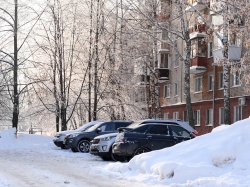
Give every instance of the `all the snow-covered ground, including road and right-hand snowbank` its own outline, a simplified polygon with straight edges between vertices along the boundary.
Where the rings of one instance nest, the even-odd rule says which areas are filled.
[[[128,163],[61,150],[53,137],[0,132],[0,187],[249,187],[250,118]]]

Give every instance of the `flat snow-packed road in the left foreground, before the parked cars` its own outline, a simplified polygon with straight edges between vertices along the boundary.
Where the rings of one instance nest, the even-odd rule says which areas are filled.
[[[101,171],[108,162],[69,150],[10,149],[0,151],[0,186],[8,187],[148,187],[121,173]]]

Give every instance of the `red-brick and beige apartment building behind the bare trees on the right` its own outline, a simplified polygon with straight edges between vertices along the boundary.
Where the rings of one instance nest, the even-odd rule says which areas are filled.
[[[172,6],[170,2],[169,0],[161,0],[163,6]],[[199,0],[189,0],[189,3],[192,4],[192,7],[187,7],[186,11],[190,12],[191,102],[195,128],[200,134],[204,134],[210,132],[214,127],[224,124],[223,67],[217,63],[218,59],[222,58],[223,46],[215,35],[208,37],[207,29],[209,26],[205,21],[219,26],[223,20],[208,9],[217,1],[211,0],[206,5],[200,3]],[[200,15],[192,11],[192,8],[202,13],[202,19]],[[163,17],[161,12],[159,15],[159,22],[171,19],[171,15]],[[178,27],[178,23],[173,26]],[[187,120],[184,92],[185,67],[176,51],[168,46],[167,42],[166,44],[162,42],[166,34],[164,31],[161,32],[162,40],[158,45],[158,65],[156,67],[159,74],[161,116],[164,119]],[[233,65],[238,65],[242,56],[242,42],[236,36],[233,40],[234,42],[228,47],[228,58],[233,62]],[[176,46],[182,49],[180,50],[182,53],[185,53],[186,46],[182,40],[176,39]],[[230,73],[231,123],[250,116],[250,95],[241,85],[241,76],[239,71]]]

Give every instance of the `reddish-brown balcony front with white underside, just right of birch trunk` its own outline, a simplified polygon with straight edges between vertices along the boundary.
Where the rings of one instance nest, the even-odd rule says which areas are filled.
[[[199,57],[191,59],[190,61],[190,73],[198,74],[207,71],[207,57]]]

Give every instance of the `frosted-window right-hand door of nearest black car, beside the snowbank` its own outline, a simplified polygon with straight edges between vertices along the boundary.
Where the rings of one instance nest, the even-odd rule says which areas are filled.
[[[189,131],[178,125],[169,125],[170,133],[175,139],[175,144],[190,140],[192,135]]]

